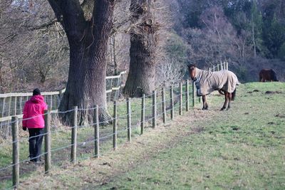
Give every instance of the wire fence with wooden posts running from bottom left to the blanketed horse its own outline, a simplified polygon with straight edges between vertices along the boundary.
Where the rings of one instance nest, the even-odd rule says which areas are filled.
[[[195,97],[195,92],[195,85],[187,80],[140,98],[109,102],[107,107],[74,107],[66,112],[46,110],[44,115],[40,115],[45,120],[44,132],[38,135],[44,139],[41,154],[37,156],[43,158],[43,162],[37,166],[44,167],[43,172],[48,174],[53,167],[100,157],[110,152],[110,149],[115,150],[118,144],[131,142],[133,137],[142,135],[157,125],[165,125],[174,120],[176,115],[182,115],[195,107],[200,102]],[[107,122],[99,120],[102,110],[108,110],[112,115]],[[62,115],[67,113],[71,115],[70,126],[61,124]],[[80,116],[83,113],[92,114],[87,117],[92,120],[81,122]],[[26,120],[29,119],[31,118]],[[21,121],[21,118],[15,116],[6,122],[6,129],[11,132],[12,137],[0,142],[0,184],[8,183],[13,188],[19,186],[20,176],[28,176],[36,168],[31,164],[31,159],[35,157],[28,155],[28,141],[34,137],[27,137],[27,132],[19,130]]]

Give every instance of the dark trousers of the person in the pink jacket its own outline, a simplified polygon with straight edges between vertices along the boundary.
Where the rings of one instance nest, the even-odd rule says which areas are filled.
[[[29,134],[29,151],[30,151],[30,160],[31,162],[41,161],[41,144],[43,142],[43,129],[28,129]],[[36,137],[35,137],[36,136]]]

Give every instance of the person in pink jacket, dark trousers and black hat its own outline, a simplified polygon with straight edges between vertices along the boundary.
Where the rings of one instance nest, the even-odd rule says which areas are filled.
[[[28,128],[29,158],[31,162],[41,162],[41,144],[43,142],[44,132],[44,110],[48,106],[41,96],[41,91],[36,88],[33,90],[33,96],[26,101],[23,110],[23,130]]]

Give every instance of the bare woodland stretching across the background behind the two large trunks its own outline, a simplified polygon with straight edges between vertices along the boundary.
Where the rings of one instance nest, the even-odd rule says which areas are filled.
[[[115,4],[108,73],[128,70],[130,1]],[[261,68],[285,80],[284,0],[156,0],[160,23],[154,53],[156,86],[187,78],[186,65],[229,63],[241,82],[257,81]],[[48,1],[0,1],[0,93],[66,87],[69,46]]]

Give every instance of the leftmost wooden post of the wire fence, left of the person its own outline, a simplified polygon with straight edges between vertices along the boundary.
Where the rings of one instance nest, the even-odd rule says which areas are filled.
[[[12,138],[13,138],[13,186],[19,185],[19,120],[12,117]]]

